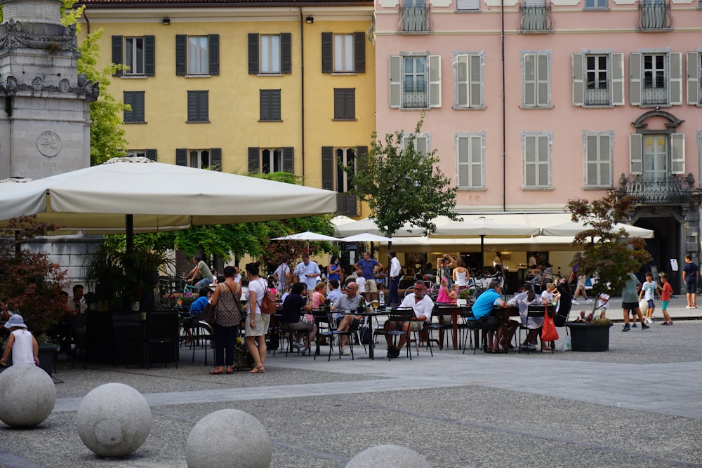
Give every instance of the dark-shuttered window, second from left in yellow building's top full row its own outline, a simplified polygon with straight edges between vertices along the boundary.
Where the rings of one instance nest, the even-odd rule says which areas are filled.
[[[219,34],[208,36],[176,35],[176,75],[209,76],[219,74]]]

